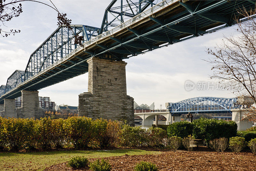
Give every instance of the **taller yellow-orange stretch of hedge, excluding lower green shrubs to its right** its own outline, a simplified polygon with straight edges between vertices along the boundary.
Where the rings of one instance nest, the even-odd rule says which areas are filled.
[[[40,120],[0,117],[0,150],[115,146],[120,125],[116,121],[93,121],[91,118],[76,116]]]

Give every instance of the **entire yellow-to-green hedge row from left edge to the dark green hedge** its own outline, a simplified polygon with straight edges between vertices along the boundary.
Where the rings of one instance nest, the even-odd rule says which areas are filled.
[[[146,130],[105,119],[76,116],[40,120],[0,117],[0,150],[161,146],[165,137],[166,132],[161,128]]]

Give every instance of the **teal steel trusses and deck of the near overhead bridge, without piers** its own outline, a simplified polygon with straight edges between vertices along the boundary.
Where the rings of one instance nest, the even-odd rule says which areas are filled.
[[[173,43],[203,36],[245,21],[239,8],[255,8],[255,0],[113,0],[100,27],[57,28],[29,57],[24,71],[16,70],[0,86],[0,103],[88,72],[92,56],[123,60]],[[157,3],[157,4],[156,4]],[[84,47],[74,42],[83,36]]]

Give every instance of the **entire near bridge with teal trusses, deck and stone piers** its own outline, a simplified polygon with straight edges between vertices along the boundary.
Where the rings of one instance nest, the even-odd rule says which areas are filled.
[[[14,71],[0,86],[1,115],[38,118],[40,109],[28,114],[29,106],[38,106],[33,102],[37,90],[89,72],[88,92],[79,95],[79,115],[133,123],[122,60],[233,26],[235,17],[244,22],[237,9],[249,11],[255,2],[113,0],[99,27],[60,26],[36,48],[24,71]],[[83,37],[83,47],[75,43],[75,35]],[[22,108],[15,110],[13,99],[19,96]]]

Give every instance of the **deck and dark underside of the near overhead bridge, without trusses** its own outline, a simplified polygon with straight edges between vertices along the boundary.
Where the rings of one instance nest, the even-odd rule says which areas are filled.
[[[241,18],[236,9],[244,7],[249,10],[255,7],[255,2],[164,0],[85,42],[83,48],[76,48],[44,70],[31,74],[15,88],[4,92],[0,96],[0,103],[4,98],[19,97],[21,90],[39,90],[88,72],[86,60],[92,56],[123,60],[232,26],[236,24],[235,15]],[[43,59],[48,57],[42,55]],[[32,64],[37,65],[36,61]]]

